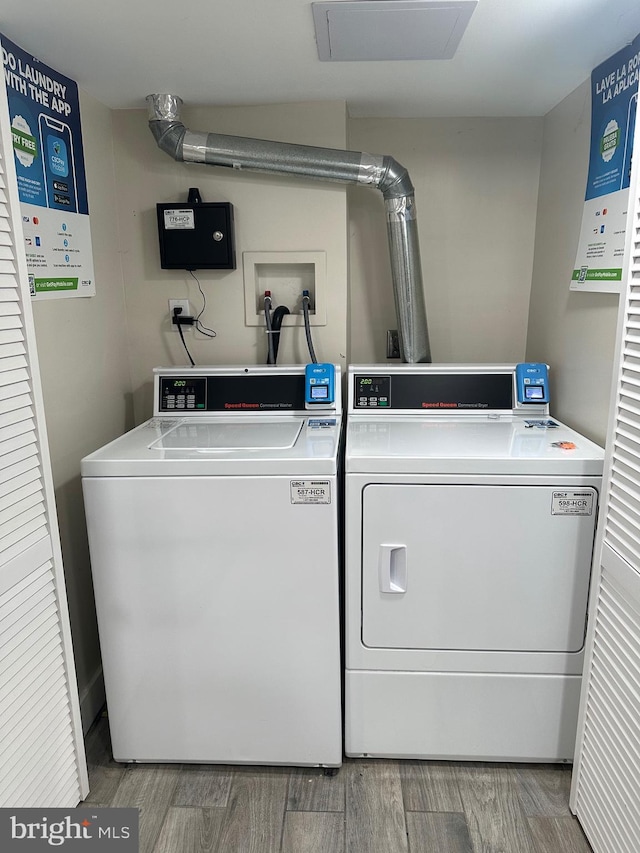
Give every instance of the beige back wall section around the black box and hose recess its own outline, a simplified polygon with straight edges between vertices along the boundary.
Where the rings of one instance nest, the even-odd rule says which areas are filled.
[[[203,201],[234,205],[237,269],[196,272],[206,294],[205,325],[217,332],[207,339],[187,333],[197,364],[256,364],[266,360],[262,327],[245,325],[243,252],[326,252],[327,325],[314,328],[320,361],[346,364],[347,213],[346,187],[308,179],[177,163],[161,151],[148,127],[146,111],[114,113],[118,218],[126,290],[129,356],[138,421],[151,414],[152,368],[187,364],[180,338],[170,328],[168,300],[188,298],[202,307],[187,272],[162,270],[156,203],[186,201],[199,187]],[[268,107],[185,109],[193,131],[345,147],[345,105],[287,104]],[[286,328],[278,363],[306,362],[304,331]]]

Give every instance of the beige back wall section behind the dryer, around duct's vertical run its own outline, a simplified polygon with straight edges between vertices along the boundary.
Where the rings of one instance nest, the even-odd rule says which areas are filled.
[[[389,154],[416,189],[435,362],[525,352],[542,119],[352,119],[349,148]],[[349,190],[350,353],[384,362],[396,328],[380,193]]]

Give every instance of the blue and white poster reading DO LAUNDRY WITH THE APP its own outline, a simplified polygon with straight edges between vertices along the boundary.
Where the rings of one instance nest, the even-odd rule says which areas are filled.
[[[31,296],[95,296],[78,87],[0,44]]]

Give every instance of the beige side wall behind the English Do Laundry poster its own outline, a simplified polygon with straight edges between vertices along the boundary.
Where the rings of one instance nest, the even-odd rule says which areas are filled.
[[[132,426],[132,416],[111,111],[84,93],[80,107],[97,295],[34,301],[33,313],[86,725],[103,699],[80,460]]]

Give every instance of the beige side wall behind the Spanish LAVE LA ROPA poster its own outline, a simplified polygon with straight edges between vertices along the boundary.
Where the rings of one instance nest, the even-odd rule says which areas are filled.
[[[569,290],[589,164],[590,84],[544,121],[527,359],[551,366],[553,413],[604,444],[618,297]]]

